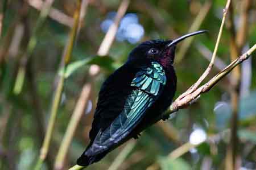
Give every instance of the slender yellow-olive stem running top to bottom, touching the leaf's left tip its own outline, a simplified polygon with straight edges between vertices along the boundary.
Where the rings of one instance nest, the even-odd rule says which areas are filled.
[[[63,66],[62,67],[64,68],[64,71],[65,71],[67,64],[69,63],[69,61],[71,59],[71,53],[73,50],[73,45],[75,43],[77,30],[79,27],[81,0],[78,0],[77,2],[78,2],[77,9],[73,16],[75,23],[74,23],[74,26],[73,26],[70,34],[69,34],[67,48],[65,49],[65,53],[63,55]],[[42,167],[43,161],[46,159],[46,156],[47,156],[47,153],[49,150],[49,144],[51,142],[53,127],[55,125],[55,120],[56,120],[56,116],[57,116],[57,109],[59,107],[61,94],[63,92],[64,79],[65,79],[64,75],[61,75],[59,78],[59,82],[57,84],[56,92],[53,97],[53,103],[52,103],[52,107],[51,107],[51,113],[50,113],[47,131],[46,131],[46,136],[44,138],[43,146],[40,151],[38,163],[36,164],[36,167],[35,167],[36,170],[39,170]]]

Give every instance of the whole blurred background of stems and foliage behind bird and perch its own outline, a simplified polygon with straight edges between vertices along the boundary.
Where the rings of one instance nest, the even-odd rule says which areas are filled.
[[[0,169],[34,169],[39,155],[45,159],[41,169],[75,165],[89,143],[100,86],[131,49],[144,40],[209,30],[177,47],[179,96],[207,68],[225,5],[224,0],[2,0]],[[254,45],[255,23],[256,1],[232,1],[207,80]],[[199,101],[88,169],[256,169],[254,56]],[[47,156],[40,153],[43,143],[49,144]]]

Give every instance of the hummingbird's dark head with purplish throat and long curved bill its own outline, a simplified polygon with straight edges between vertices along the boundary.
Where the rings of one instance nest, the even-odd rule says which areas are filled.
[[[152,59],[158,61],[163,67],[170,67],[174,63],[175,48],[177,43],[189,36],[207,31],[196,31],[180,36],[175,40],[150,40],[139,44],[131,51],[128,60]]]

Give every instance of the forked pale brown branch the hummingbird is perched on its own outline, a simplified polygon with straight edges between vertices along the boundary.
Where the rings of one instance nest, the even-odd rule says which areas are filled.
[[[249,56],[251,55],[251,53],[253,53],[256,49],[256,44],[253,45],[253,47],[251,47],[247,52],[243,53],[243,55],[241,55],[240,57],[238,57],[236,60],[234,60],[232,63],[230,63],[228,66],[226,66],[224,69],[222,69],[222,71],[220,71],[218,74],[216,74],[216,76],[214,76],[212,79],[210,79],[207,83],[205,83],[204,85],[200,86],[201,82],[204,80],[205,77],[208,76],[210,70],[213,67],[214,64],[214,60],[216,58],[216,54],[217,54],[217,49],[218,49],[218,45],[220,43],[220,38],[221,38],[221,34],[222,34],[222,30],[224,27],[224,23],[225,23],[225,19],[226,19],[226,14],[227,11],[229,9],[229,5],[230,5],[230,0],[227,1],[225,9],[224,9],[224,15],[222,18],[222,23],[221,23],[221,27],[220,27],[220,32],[218,34],[218,38],[217,38],[217,42],[216,42],[216,47],[214,48],[214,52],[213,52],[213,56],[212,56],[212,60],[210,61],[210,64],[208,66],[208,68],[205,70],[205,72],[203,73],[203,75],[199,78],[199,80],[197,80],[196,84],[194,84],[193,86],[191,86],[191,88],[189,88],[186,92],[184,92],[183,94],[181,94],[170,106],[170,109],[166,112],[163,113],[162,115],[160,115],[158,118],[156,118],[154,121],[149,122],[148,125],[144,125],[141,128],[138,129],[138,132],[143,131],[145,128],[147,128],[148,126],[152,125],[155,122],[160,121],[160,119],[162,118],[167,118],[169,117],[169,115],[171,113],[176,112],[177,110],[180,109],[184,109],[185,107],[191,105],[191,103],[197,99],[200,98],[200,95],[203,93],[207,93],[209,92],[209,90],[211,90],[213,88],[214,85],[216,85],[222,78],[224,78],[229,72],[231,72],[234,68],[237,67],[237,65],[241,64],[243,61],[245,61],[246,59],[249,58]],[[72,170],[77,170],[77,169],[83,169],[85,167],[79,166],[79,165],[75,165],[74,167],[72,167]],[[69,169],[69,170],[71,170]]]

